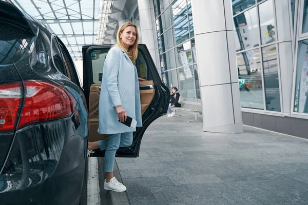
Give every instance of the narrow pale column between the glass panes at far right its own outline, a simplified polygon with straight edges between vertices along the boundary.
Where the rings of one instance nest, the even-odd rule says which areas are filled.
[[[292,82],[293,82],[293,47],[292,47],[292,18],[288,0],[275,1],[277,21],[278,51],[280,65],[280,94],[282,96],[282,110],[291,113]],[[278,53],[277,53],[278,54]]]

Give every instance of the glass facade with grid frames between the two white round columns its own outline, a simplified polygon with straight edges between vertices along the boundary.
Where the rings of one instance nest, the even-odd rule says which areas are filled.
[[[191,1],[153,1],[163,82],[183,97],[200,98]]]

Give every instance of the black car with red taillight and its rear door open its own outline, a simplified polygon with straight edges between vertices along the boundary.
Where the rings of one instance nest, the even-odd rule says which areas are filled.
[[[88,141],[104,138],[97,132],[98,104],[110,47],[83,47],[82,87],[61,40],[0,1],[0,204],[80,203]],[[169,91],[145,45],[136,67],[146,79],[140,87],[143,127],[117,157],[137,157],[146,128],[167,112]]]

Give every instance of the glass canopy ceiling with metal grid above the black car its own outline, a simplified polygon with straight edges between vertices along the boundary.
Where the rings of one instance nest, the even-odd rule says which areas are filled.
[[[82,59],[82,46],[102,44],[112,0],[2,0],[14,4],[49,26],[74,60]]]

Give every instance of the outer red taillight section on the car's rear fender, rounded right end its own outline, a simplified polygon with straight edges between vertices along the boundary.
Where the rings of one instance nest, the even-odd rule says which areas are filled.
[[[18,129],[36,122],[65,118],[74,111],[75,99],[62,87],[42,81],[26,81],[25,88],[25,103]]]

